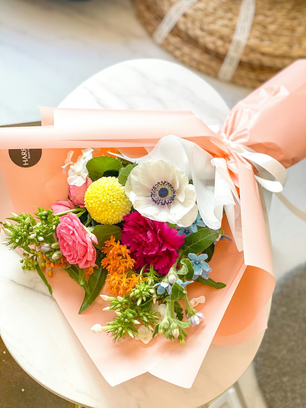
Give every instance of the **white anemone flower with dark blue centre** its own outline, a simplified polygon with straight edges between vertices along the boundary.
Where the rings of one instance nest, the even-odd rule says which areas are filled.
[[[148,160],[139,164],[124,189],[135,210],[150,220],[187,227],[197,217],[194,186],[172,163]]]

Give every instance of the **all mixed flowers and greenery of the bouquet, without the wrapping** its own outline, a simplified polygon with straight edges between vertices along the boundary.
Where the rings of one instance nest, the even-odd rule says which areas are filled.
[[[231,238],[206,226],[192,180],[172,163],[93,157],[90,148],[72,162],[73,153],[62,166],[68,200],[34,216],[12,213],[2,244],[23,251],[22,269],[36,270],[50,294],[45,273],[66,271],[84,288],[79,313],[105,286],[109,295],[101,297],[114,318],[91,330],[114,341],[128,335],[147,344],[159,333],[184,344],[185,329],[204,319],[194,307],[205,302],[204,295],[188,299],[186,286],[226,286],[209,277],[208,262],[217,241]]]

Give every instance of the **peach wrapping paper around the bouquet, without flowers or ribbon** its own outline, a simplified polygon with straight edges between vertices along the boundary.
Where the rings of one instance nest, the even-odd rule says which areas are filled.
[[[306,60],[299,60],[239,102],[228,115],[223,132],[229,140],[271,155],[288,167],[306,157],[305,112]],[[12,211],[8,208],[11,203],[15,211],[33,211],[34,204],[49,207],[67,197],[67,180],[60,165],[68,149],[91,146],[101,148],[103,154],[116,147],[131,157],[140,157],[168,134],[191,140],[216,157],[227,157],[233,181],[239,184],[244,252],[239,253],[235,244],[226,240],[217,245],[211,277],[227,286],[222,290],[201,284],[191,287],[189,297],[206,297],[206,303],[197,306],[205,320],[190,328],[184,346],[162,337],[146,346],[130,339],[113,344],[107,335],[89,330],[112,317],[112,312],[102,312],[105,302],[99,297],[78,315],[82,288],[60,270],[49,279],[56,301],[109,384],[115,386],[149,371],[189,388],[211,342],[239,344],[266,328],[266,303],[273,292],[274,277],[250,164],[235,154],[227,155],[223,142],[191,112],[42,108],[42,125],[0,129],[0,164],[6,183],[2,191],[7,189],[7,200],[1,200],[1,219]],[[24,147],[42,148],[42,159],[29,169],[13,164],[8,155],[8,149]],[[231,235],[226,220],[222,226]]]

